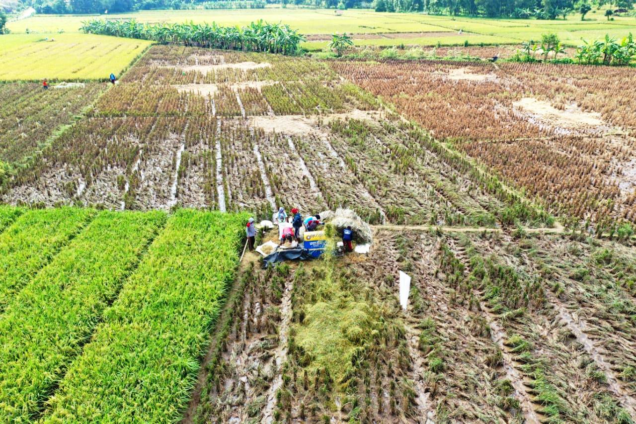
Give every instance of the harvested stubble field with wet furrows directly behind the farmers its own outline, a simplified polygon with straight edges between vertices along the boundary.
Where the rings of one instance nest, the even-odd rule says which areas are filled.
[[[155,46],[2,189],[12,204],[303,213],[372,223],[550,225],[328,63]],[[476,178],[474,173],[478,173]]]

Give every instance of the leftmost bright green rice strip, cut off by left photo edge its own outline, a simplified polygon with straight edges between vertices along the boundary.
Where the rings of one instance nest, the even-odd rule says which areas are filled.
[[[94,215],[93,209],[32,210],[0,234],[0,311]]]

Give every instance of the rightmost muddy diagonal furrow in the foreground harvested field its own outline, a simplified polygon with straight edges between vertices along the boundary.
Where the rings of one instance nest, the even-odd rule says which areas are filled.
[[[607,386],[609,386],[610,390],[620,399],[623,407],[625,407],[632,416],[636,416],[636,399],[632,397],[628,390],[623,388],[623,385],[621,385],[616,373],[612,369],[612,364],[605,360],[604,355],[598,351],[598,348],[593,341],[591,341],[590,337],[584,333],[583,329],[586,327],[585,322],[574,320],[572,314],[567,311],[560,300],[556,299],[556,297],[547,290],[546,293],[548,294],[548,299],[550,299],[551,304],[555,307],[559,318],[561,318],[567,328],[574,334],[576,340],[583,345],[584,350],[594,360],[598,368],[605,373]]]

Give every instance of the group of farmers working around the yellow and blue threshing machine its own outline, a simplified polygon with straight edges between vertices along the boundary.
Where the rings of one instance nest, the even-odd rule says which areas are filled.
[[[307,216],[303,219],[300,215],[298,208],[291,209],[291,214],[287,215],[285,208],[282,206],[279,208],[278,213],[273,216],[277,225],[287,224],[280,232],[280,248],[293,249],[300,243],[300,229],[301,227],[305,231],[315,231],[315,229],[322,224],[319,214]],[[289,226],[291,223],[291,226]],[[249,250],[254,250],[254,243],[256,243],[256,226],[254,224],[254,218],[249,218],[247,222],[247,228],[245,229],[247,234],[247,245]],[[353,251],[351,227],[347,227],[343,230],[342,242],[346,251]]]

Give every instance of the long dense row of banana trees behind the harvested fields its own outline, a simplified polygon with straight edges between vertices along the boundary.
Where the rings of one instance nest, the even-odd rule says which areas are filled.
[[[136,20],[95,19],[82,22],[81,30],[103,34],[139,38],[159,43],[182,44],[245,52],[294,54],[300,50],[305,37],[286,24],[268,24],[259,20],[239,27],[212,24],[142,24]]]

